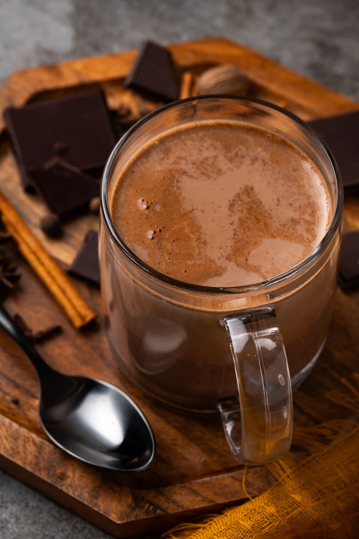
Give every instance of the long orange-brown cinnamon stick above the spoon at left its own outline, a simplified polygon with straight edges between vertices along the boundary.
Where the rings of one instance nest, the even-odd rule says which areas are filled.
[[[75,328],[85,326],[93,320],[96,316],[93,310],[1,192],[0,211],[2,222],[16,241],[19,252],[64,309]]]

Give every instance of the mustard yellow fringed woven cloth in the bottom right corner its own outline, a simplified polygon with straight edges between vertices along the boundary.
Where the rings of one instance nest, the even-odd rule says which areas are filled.
[[[347,393],[327,397],[353,410],[353,420],[333,420],[294,430],[289,452],[268,465],[278,482],[255,499],[201,524],[168,532],[171,539],[281,539],[359,537],[359,375],[342,380]],[[308,456],[309,453],[309,456]]]

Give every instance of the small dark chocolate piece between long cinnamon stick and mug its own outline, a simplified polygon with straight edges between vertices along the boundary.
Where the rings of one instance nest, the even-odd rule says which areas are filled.
[[[100,264],[98,262],[98,234],[89,230],[75,258],[67,267],[68,273],[100,285]]]

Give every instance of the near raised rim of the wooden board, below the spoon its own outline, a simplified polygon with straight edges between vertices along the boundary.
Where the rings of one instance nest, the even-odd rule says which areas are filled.
[[[5,433],[5,437],[7,439],[7,441],[6,439],[0,439],[0,467],[4,469],[4,471],[10,473],[20,481],[23,481],[27,485],[38,490],[39,492],[59,503],[60,505],[66,507],[69,510],[72,510],[84,519],[117,537],[126,537],[129,535],[146,533],[147,531],[156,531],[160,529],[170,528],[174,524],[180,523],[185,519],[192,519],[193,517],[213,512],[221,512],[221,510],[226,507],[240,505],[240,503],[246,501],[242,489],[242,476],[244,470],[243,468],[241,468],[231,473],[223,472],[221,474],[214,474],[213,476],[198,478],[187,483],[182,483],[182,488],[184,488],[185,490],[188,488],[188,492],[192,494],[193,492],[196,492],[198,496],[196,498],[195,507],[186,508],[179,506],[178,510],[173,510],[173,507],[171,508],[171,505],[173,506],[173,491],[180,488],[181,485],[170,485],[168,487],[159,487],[158,489],[145,488],[143,490],[139,490],[122,486],[116,483],[116,488],[118,487],[118,489],[124,489],[124,499],[126,499],[126,493],[133,493],[133,497],[131,497],[131,500],[129,499],[128,501],[135,503],[137,500],[138,502],[140,502],[141,498],[144,497],[145,505],[149,508],[149,511],[151,510],[151,507],[154,511],[158,509],[156,507],[156,499],[159,496],[161,499],[160,510],[162,510],[163,513],[149,513],[148,515],[143,514],[140,515],[139,518],[136,518],[138,516],[138,513],[140,513],[140,511],[143,510],[144,507],[142,503],[140,503],[140,505],[138,506],[138,513],[135,514],[132,512],[127,520],[126,517],[121,517],[121,515],[118,515],[118,517],[114,516],[114,508],[110,507],[110,504],[107,506],[108,514],[105,514],[104,512],[100,512],[100,510],[95,508],[94,506],[91,507],[90,503],[86,503],[86,501],[84,501],[83,499],[81,500],[79,497],[76,497],[74,494],[69,493],[66,489],[62,489],[61,486],[55,484],[56,481],[59,482],[57,480],[59,474],[61,475],[61,473],[69,469],[69,464],[71,464],[70,467],[72,467],[73,465],[73,467],[76,468],[78,462],[75,461],[75,459],[69,457],[68,455],[66,455],[66,453],[62,453],[61,450],[55,447],[47,438],[38,438],[36,434],[33,434],[31,431],[25,429],[25,427],[22,427],[18,423],[16,423],[16,421],[13,421],[12,419],[9,419],[5,416],[0,416],[0,427],[3,432],[3,436]],[[17,453],[19,441],[20,445],[25,444],[26,447],[31,447],[32,438],[35,439],[34,443],[36,444],[37,448],[36,455],[34,455],[31,459],[29,458],[29,455],[27,455],[26,457],[26,452],[22,452],[21,449]],[[56,463],[56,467],[53,467],[52,469],[56,470],[57,478],[55,478],[51,470],[50,472],[47,471],[47,476],[45,476],[43,472],[39,471],[39,469],[36,468],[38,464],[39,454],[42,454],[43,456],[45,455],[46,461]],[[59,455],[61,458],[60,467]],[[62,460],[62,457],[64,458],[64,460]],[[80,464],[84,467],[87,467],[87,465],[85,464]],[[101,471],[98,471],[95,468],[94,470],[96,473],[98,472],[98,474],[101,474]],[[78,470],[78,468],[76,468],[76,473],[78,473],[80,477],[82,476],[82,481],[86,482],[86,476],[83,475],[83,471],[81,471],[81,469]],[[250,468],[247,474],[249,487],[248,489],[251,495],[260,494],[260,492],[254,492],[251,486],[252,476],[253,479],[255,479],[256,473],[257,472],[255,468]],[[264,487],[267,482],[266,478],[267,476],[270,476],[270,474],[263,467],[261,473],[262,485]],[[72,479],[77,480],[78,476]],[[98,479],[101,485],[101,477]],[[209,483],[216,483],[217,487],[223,488],[228,485],[228,481],[232,482],[235,486],[235,488],[233,489],[235,495],[231,496],[230,499],[227,499],[223,502],[218,500],[212,500],[212,502],[208,503],[208,499],[206,499],[206,497],[201,497],[201,490],[207,489],[207,485],[209,491],[213,492],[214,485],[211,486],[209,485]],[[199,486],[200,488],[198,488]],[[82,488],[85,489],[85,485],[82,485]],[[263,489],[265,489],[265,487]],[[105,495],[110,496],[111,499],[113,499],[113,494],[115,494],[114,497],[116,498],[115,501],[117,502],[118,498],[116,496],[116,493],[112,492],[112,490],[109,490],[107,493],[105,493]],[[153,499],[152,506],[151,499]],[[167,506],[167,509],[163,501],[165,503],[166,501],[168,501],[169,505]]]

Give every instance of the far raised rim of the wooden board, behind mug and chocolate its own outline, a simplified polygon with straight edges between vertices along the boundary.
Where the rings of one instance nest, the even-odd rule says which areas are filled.
[[[295,101],[316,115],[359,109],[359,103],[314,82],[277,62],[227,38],[209,38],[168,45],[180,67],[200,61],[231,61],[250,72],[257,84]],[[186,53],[186,54],[185,54]],[[68,60],[53,65],[15,71],[0,87],[0,133],[4,128],[2,112],[9,106],[22,106],[34,94],[54,88],[100,83],[125,77],[136,50]],[[268,71],[271,72],[270,79]],[[15,92],[16,89],[16,92]],[[310,94],[310,95],[309,95]]]

